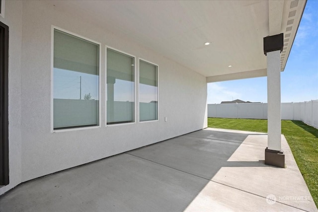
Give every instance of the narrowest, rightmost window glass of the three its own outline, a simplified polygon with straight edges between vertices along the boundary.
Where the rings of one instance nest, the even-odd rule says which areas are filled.
[[[139,61],[139,120],[158,120],[158,66]]]

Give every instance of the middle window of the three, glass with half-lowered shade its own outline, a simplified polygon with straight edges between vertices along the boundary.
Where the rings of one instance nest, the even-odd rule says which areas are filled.
[[[135,58],[107,48],[107,125],[135,120]]]

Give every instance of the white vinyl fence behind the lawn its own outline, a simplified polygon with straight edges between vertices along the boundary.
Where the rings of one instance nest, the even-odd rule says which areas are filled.
[[[318,100],[281,106],[282,120],[299,120],[318,129]],[[208,117],[267,119],[267,103],[208,104]]]

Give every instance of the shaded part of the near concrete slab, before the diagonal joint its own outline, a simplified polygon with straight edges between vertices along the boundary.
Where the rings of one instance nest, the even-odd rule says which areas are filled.
[[[1,212],[183,211],[208,180],[129,154],[20,185]]]

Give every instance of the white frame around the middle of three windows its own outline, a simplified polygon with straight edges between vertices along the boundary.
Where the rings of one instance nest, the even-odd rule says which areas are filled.
[[[133,122],[129,122],[129,123],[119,123],[119,124],[111,124],[111,125],[107,125],[107,49],[111,49],[114,50],[116,52],[120,52],[122,54],[128,55],[130,57],[134,58],[134,121]],[[136,56],[129,54],[127,52],[121,51],[119,49],[113,48],[111,46],[105,45],[105,102],[104,102],[104,106],[105,106],[105,126],[106,127],[116,127],[116,126],[122,126],[122,125],[133,125],[136,124],[136,87],[137,87],[137,76],[136,76]]]

